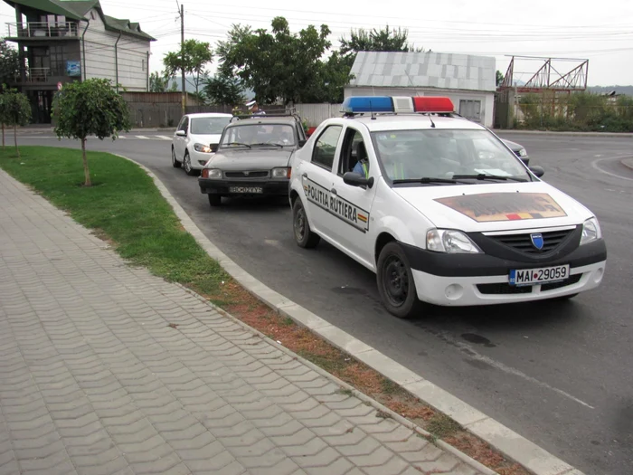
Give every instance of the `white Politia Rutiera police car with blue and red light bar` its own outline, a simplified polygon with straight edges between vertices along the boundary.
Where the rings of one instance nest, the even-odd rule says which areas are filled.
[[[393,315],[424,303],[568,299],[600,285],[595,215],[443,97],[350,97],[291,161],[295,240],[376,273]]]

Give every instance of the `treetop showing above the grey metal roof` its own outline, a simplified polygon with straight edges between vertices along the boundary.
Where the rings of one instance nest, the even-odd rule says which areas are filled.
[[[358,52],[422,52],[422,48],[416,48],[409,43],[409,31],[394,28],[389,29],[387,24],[384,29],[371,31],[359,28],[350,30],[349,39],[342,36],[340,53],[347,65],[352,68]]]

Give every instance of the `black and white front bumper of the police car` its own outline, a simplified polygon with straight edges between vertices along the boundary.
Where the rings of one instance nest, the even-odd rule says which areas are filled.
[[[528,263],[487,254],[442,254],[403,245],[422,301],[441,306],[476,306],[563,297],[595,289],[604,276],[607,248],[603,240],[580,246],[562,258]],[[512,269],[570,265],[561,282],[529,287],[509,285]]]

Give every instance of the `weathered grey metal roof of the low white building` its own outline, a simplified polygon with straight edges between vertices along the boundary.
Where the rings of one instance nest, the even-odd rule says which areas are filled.
[[[494,57],[444,52],[359,52],[351,87],[496,90]]]

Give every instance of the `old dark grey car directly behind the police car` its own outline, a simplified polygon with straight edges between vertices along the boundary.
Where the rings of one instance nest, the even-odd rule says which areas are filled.
[[[222,133],[217,152],[203,166],[200,192],[209,204],[222,196],[288,196],[289,160],[306,143],[297,115],[266,115],[231,122]]]

